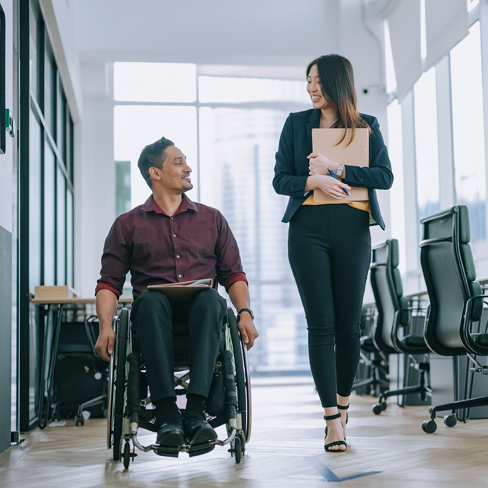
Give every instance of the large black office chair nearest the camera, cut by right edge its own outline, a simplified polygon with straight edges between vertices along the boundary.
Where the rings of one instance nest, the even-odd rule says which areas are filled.
[[[483,298],[469,246],[469,213],[466,205],[456,205],[420,221],[423,240],[420,263],[424,273],[430,305],[424,337],[429,349],[442,356],[466,355],[474,363],[471,371],[488,374],[475,355],[488,356],[488,334],[474,333],[473,323],[483,315]],[[486,303],[486,302],[485,302]],[[488,406],[488,397],[460,400],[431,408],[430,420],[424,421],[424,432],[433,433],[436,413],[451,410],[444,417],[447,427],[456,424],[458,409]],[[467,420],[465,420],[467,422]]]

